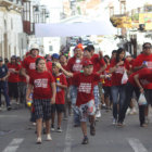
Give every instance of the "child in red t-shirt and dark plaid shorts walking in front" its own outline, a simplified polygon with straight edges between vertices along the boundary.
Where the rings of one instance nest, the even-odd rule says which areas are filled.
[[[50,136],[50,118],[51,104],[55,102],[55,84],[52,74],[46,71],[45,59],[38,58],[36,60],[36,71],[29,79],[29,85],[26,93],[26,102],[28,102],[29,94],[33,92],[35,116],[37,124],[37,143],[41,143],[41,127],[42,118],[46,123],[47,140],[52,140]]]

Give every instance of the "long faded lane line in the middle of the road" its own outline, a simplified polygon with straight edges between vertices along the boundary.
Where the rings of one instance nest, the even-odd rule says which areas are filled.
[[[68,118],[68,123],[67,123],[67,129],[66,129],[66,136],[65,136],[65,149],[64,152],[71,152],[72,151],[72,118],[73,116],[71,116]]]

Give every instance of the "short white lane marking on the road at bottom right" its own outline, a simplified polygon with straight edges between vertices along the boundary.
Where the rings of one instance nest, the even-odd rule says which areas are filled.
[[[148,152],[139,139],[128,138],[127,139],[135,152]]]

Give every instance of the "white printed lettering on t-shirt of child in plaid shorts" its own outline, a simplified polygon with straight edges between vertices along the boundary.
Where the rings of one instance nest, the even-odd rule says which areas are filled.
[[[35,79],[35,87],[36,88],[47,88],[48,87],[48,79],[41,78],[41,79]]]

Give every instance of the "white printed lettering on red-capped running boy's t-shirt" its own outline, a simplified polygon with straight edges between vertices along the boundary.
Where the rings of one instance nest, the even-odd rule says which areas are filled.
[[[81,83],[78,88],[79,92],[90,93],[91,92],[91,84]]]

